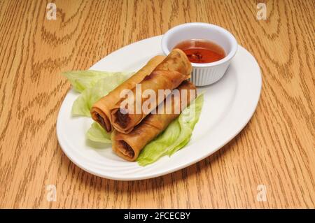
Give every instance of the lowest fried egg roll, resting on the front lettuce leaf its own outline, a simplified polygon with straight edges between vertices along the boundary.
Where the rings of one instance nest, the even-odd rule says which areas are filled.
[[[148,115],[129,134],[123,134],[114,129],[111,134],[113,152],[127,161],[135,161],[146,144],[164,131],[176,117],[179,117],[180,112],[197,96],[195,85],[188,80],[185,80],[177,89],[179,89],[179,94],[171,94],[165,99],[165,101],[172,100],[171,103],[164,101],[164,106],[160,104],[158,107],[159,112]],[[187,94],[183,94],[181,92],[182,89],[186,89]],[[185,97],[186,101],[183,101]],[[168,109],[169,111],[172,110],[172,112],[167,114],[167,107],[170,105],[172,105],[172,109]],[[162,113],[160,113],[159,109],[161,109]],[[174,111],[179,111],[179,113]]]

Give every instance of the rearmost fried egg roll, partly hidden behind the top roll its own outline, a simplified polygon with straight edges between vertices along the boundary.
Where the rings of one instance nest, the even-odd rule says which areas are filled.
[[[141,82],[141,80],[144,80],[147,75],[150,75],[163,59],[165,59],[165,56],[153,57],[137,73],[134,73],[134,75],[125,80],[123,84],[119,85],[116,89],[113,89],[109,94],[94,103],[91,109],[92,119],[101,124],[106,131],[111,131],[111,110],[113,106],[120,101],[120,92],[123,91],[123,89],[133,89],[139,82]]]

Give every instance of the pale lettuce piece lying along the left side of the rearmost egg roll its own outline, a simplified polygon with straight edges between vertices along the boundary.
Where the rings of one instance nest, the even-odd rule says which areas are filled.
[[[93,87],[83,90],[80,96],[78,96],[78,99],[73,102],[71,114],[73,116],[91,117],[90,110],[93,104],[127,80],[130,75],[132,75],[132,73],[107,72],[106,77],[98,80]]]

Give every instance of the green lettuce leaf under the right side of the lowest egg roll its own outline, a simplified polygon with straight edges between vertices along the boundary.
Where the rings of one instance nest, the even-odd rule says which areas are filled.
[[[146,145],[139,154],[138,164],[141,166],[152,164],[160,157],[171,156],[183,148],[190,141],[195,124],[199,120],[203,102],[204,96],[200,94],[162,134]]]

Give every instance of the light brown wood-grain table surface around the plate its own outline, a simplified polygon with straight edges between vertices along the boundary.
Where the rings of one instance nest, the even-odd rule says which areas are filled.
[[[48,2],[0,0],[0,208],[314,208],[314,0],[267,1],[267,20],[260,1],[60,0],[56,20]],[[60,73],[185,22],[230,30],[257,59],[261,98],[244,130],[151,180],[106,180],[69,161],[56,136],[70,89]]]

